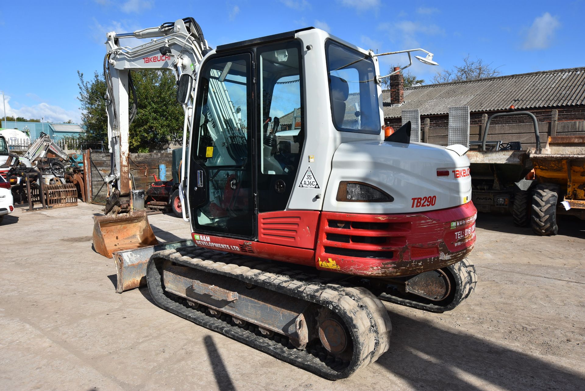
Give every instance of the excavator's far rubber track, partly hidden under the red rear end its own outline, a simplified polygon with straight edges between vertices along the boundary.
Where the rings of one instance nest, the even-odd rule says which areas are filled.
[[[427,304],[421,303],[420,301],[403,299],[387,293],[380,294],[378,298],[384,301],[389,301],[390,303],[400,304],[401,306],[417,308],[417,310],[424,310],[433,313],[450,311],[473,293],[477,284],[477,272],[473,263],[469,262],[469,259],[467,258],[453,263],[453,265],[447,266],[445,269],[448,269],[455,279],[455,294],[449,296],[452,297],[452,300],[448,303],[439,302],[441,304]]]

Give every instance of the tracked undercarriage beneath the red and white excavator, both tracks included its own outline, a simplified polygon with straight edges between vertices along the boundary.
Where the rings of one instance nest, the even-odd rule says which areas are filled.
[[[184,247],[154,254],[146,279],[167,311],[328,379],[346,378],[387,351],[390,318],[372,293],[386,282],[318,276],[295,266]],[[446,269],[448,278],[459,279],[446,300],[380,298],[449,310],[473,292],[477,277],[468,260]]]

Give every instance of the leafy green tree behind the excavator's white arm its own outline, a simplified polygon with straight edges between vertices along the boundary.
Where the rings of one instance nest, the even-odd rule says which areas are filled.
[[[93,80],[85,81],[77,72],[80,83],[81,121],[88,141],[107,142],[108,118],[104,95],[104,77],[97,72]],[[183,108],[176,101],[176,81],[170,70],[132,72],[137,95],[137,113],[130,124],[129,146],[132,152],[148,152],[169,142],[183,139]],[[129,105],[132,107],[132,94]]]

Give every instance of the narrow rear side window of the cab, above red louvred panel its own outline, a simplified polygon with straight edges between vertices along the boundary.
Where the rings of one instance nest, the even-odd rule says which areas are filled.
[[[259,46],[257,101],[258,210],[286,210],[305,140],[301,44],[289,40]]]

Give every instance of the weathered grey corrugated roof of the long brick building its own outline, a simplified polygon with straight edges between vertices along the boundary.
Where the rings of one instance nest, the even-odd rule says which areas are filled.
[[[522,73],[474,81],[429,84],[404,89],[404,104],[392,106],[390,90],[382,92],[384,118],[402,110],[419,109],[421,115],[446,114],[449,107],[470,111],[559,107],[585,104],[585,67]]]

